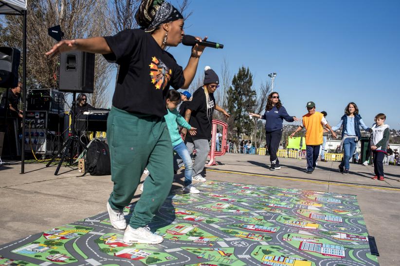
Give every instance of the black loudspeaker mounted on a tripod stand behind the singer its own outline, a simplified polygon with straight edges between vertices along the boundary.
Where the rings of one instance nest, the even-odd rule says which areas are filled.
[[[59,90],[93,93],[94,53],[69,51],[60,55]]]

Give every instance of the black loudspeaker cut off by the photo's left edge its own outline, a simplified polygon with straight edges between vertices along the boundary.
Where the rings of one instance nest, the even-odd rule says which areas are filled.
[[[21,52],[12,47],[0,47],[0,87],[18,86],[18,67]]]

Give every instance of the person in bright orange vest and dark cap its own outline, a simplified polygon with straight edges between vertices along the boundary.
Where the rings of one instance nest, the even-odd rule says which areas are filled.
[[[303,127],[306,128],[307,173],[312,174],[316,166],[315,163],[318,159],[320,146],[323,143],[324,126],[332,133],[334,138],[336,138],[336,133],[329,126],[324,115],[315,111],[315,103],[313,101],[307,102],[306,108],[308,113],[303,116],[303,125],[291,133],[291,137],[302,130]]]

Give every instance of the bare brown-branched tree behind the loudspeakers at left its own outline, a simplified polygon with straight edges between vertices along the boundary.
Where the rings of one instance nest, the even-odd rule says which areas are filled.
[[[28,1],[27,83],[44,88],[57,86],[58,62],[48,60],[44,55],[55,44],[47,34],[48,28],[59,24],[66,39],[107,35],[105,6],[107,0]],[[0,44],[21,49],[22,17],[5,16],[1,22]],[[106,77],[110,70],[107,65],[103,57],[96,57],[95,86],[91,96],[95,99],[91,103],[96,107],[102,107],[107,100]]]

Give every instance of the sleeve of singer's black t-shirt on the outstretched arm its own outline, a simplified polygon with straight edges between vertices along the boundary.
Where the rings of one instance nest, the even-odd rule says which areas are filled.
[[[140,30],[124,30],[114,36],[104,37],[112,50],[112,53],[104,54],[104,58],[110,63],[117,63],[118,65],[130,59],[138,46],[141,35]]]

